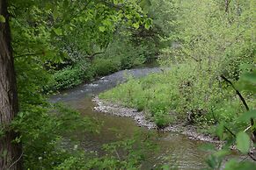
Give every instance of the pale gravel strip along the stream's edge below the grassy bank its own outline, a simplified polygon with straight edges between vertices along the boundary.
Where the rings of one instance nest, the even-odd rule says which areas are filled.
[[[150,130],[157,129],[157,125],[154,122],[148,120],[145,117],[145,114],[143,113],[143,111],[137,111],[132,108],[123,107],[121,106],[121,104],[118,104],[118,103],[109,103],[99,99],[98,96],[95,96],[92,99],[92,101],[97,104],[97,106],[94,107],[94,110],[97,110],[99,112],[103,112],[106,114],[111,114],[116,117],[130,117],[135,120],[135,123],[138,126],[143,126]],[[181,134],[186,135],[190,139],[201,140],[205,142],[214,143],[217,145],[223,144],[223,141],[217,140],[216,138],[213,138],[209,135],[205,135],[197,132],[196,128],[193,125],[174,124],[174,125],[169,125],[159,131],[179,132]]]

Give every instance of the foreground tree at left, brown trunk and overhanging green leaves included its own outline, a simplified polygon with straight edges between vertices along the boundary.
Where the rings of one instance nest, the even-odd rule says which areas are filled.
[[[71,39],[71,36],[82,37],[80,42],[84,43],[85,47],[83,46],[82,50],[86,53],[94,44],[100,47],[106,46],[117,25],[127,24],[135,27],[145,25],[146,15],[138,2],[136,0],[0,1],[0,168],[21,169],[22,156],[26,154],[25,158],[30,158],[30,153],[21,151],[20,139],[26,146],[29,140],[26,137],[31,135],[26,133],[29,131],[26,128],[32,128],[33,125],[35,128],[41,124],[40,126],[48,131],[53,130],[51,128],[54,121],[51,121],[47,114],[40,114],[47,112],[45,96],[42,96],[41,92],[42,86],[47,85],[49,80],[45,71],[48,62],[63,60],[63,56],[59,55],[62,52],[60,49],[62,39],[68,38],[71,44],[76,40]],[[149,26],[148,23],[146,24]],[[58,45],[55,45],[56,43]],[[23,119],[24,117],[27,118]],[[22,125],[19,129],[16,127],[21,133],[21,138],[16,132],[17,129],[11,126],[14,119],[17,119],[16,124]],[[33,135],[34,138],[41,137],[38,132]],[[43,147],[44,144],[39,143],[39,145],[38,148]],[[25,151],[28,151],[27,148]]]

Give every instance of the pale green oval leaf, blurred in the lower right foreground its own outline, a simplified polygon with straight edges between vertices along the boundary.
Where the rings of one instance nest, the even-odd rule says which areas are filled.
[[[247,153],[250,150],[250,137],[243,131],[240,131],[237,135],[237,147],[243,153]]]

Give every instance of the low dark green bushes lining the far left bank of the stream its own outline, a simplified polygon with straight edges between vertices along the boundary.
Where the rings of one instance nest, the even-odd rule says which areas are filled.
[[[98,76],[140,66],[156,53],[154,50],[150,51],[150,47],[146,44],[136,46],[130,39],[131,35],[122,33],[115,37],[115,41],[108,45],[104,53],[95,56],[92,60],[84,59],[81,54],[71,56],[73,61],[70,66],[55,71],[54,81],[49,85],[48,90],[69,89]]]

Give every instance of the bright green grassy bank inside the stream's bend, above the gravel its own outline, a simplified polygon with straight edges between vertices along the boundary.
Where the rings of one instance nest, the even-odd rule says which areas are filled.
[[[201,67],[202,68],[202,67]],[[199,131],[216,134],[217,122],[239,131],[246,123],[238,119],[245,108],[234,89],[223,80],[212,80],[195,62],[173,65],[163,73],[130,80],[100,94],[113,103],[143,110],[158,127],[169,124],[195,124]],[[255,107],[255,100],[244,93]]]

